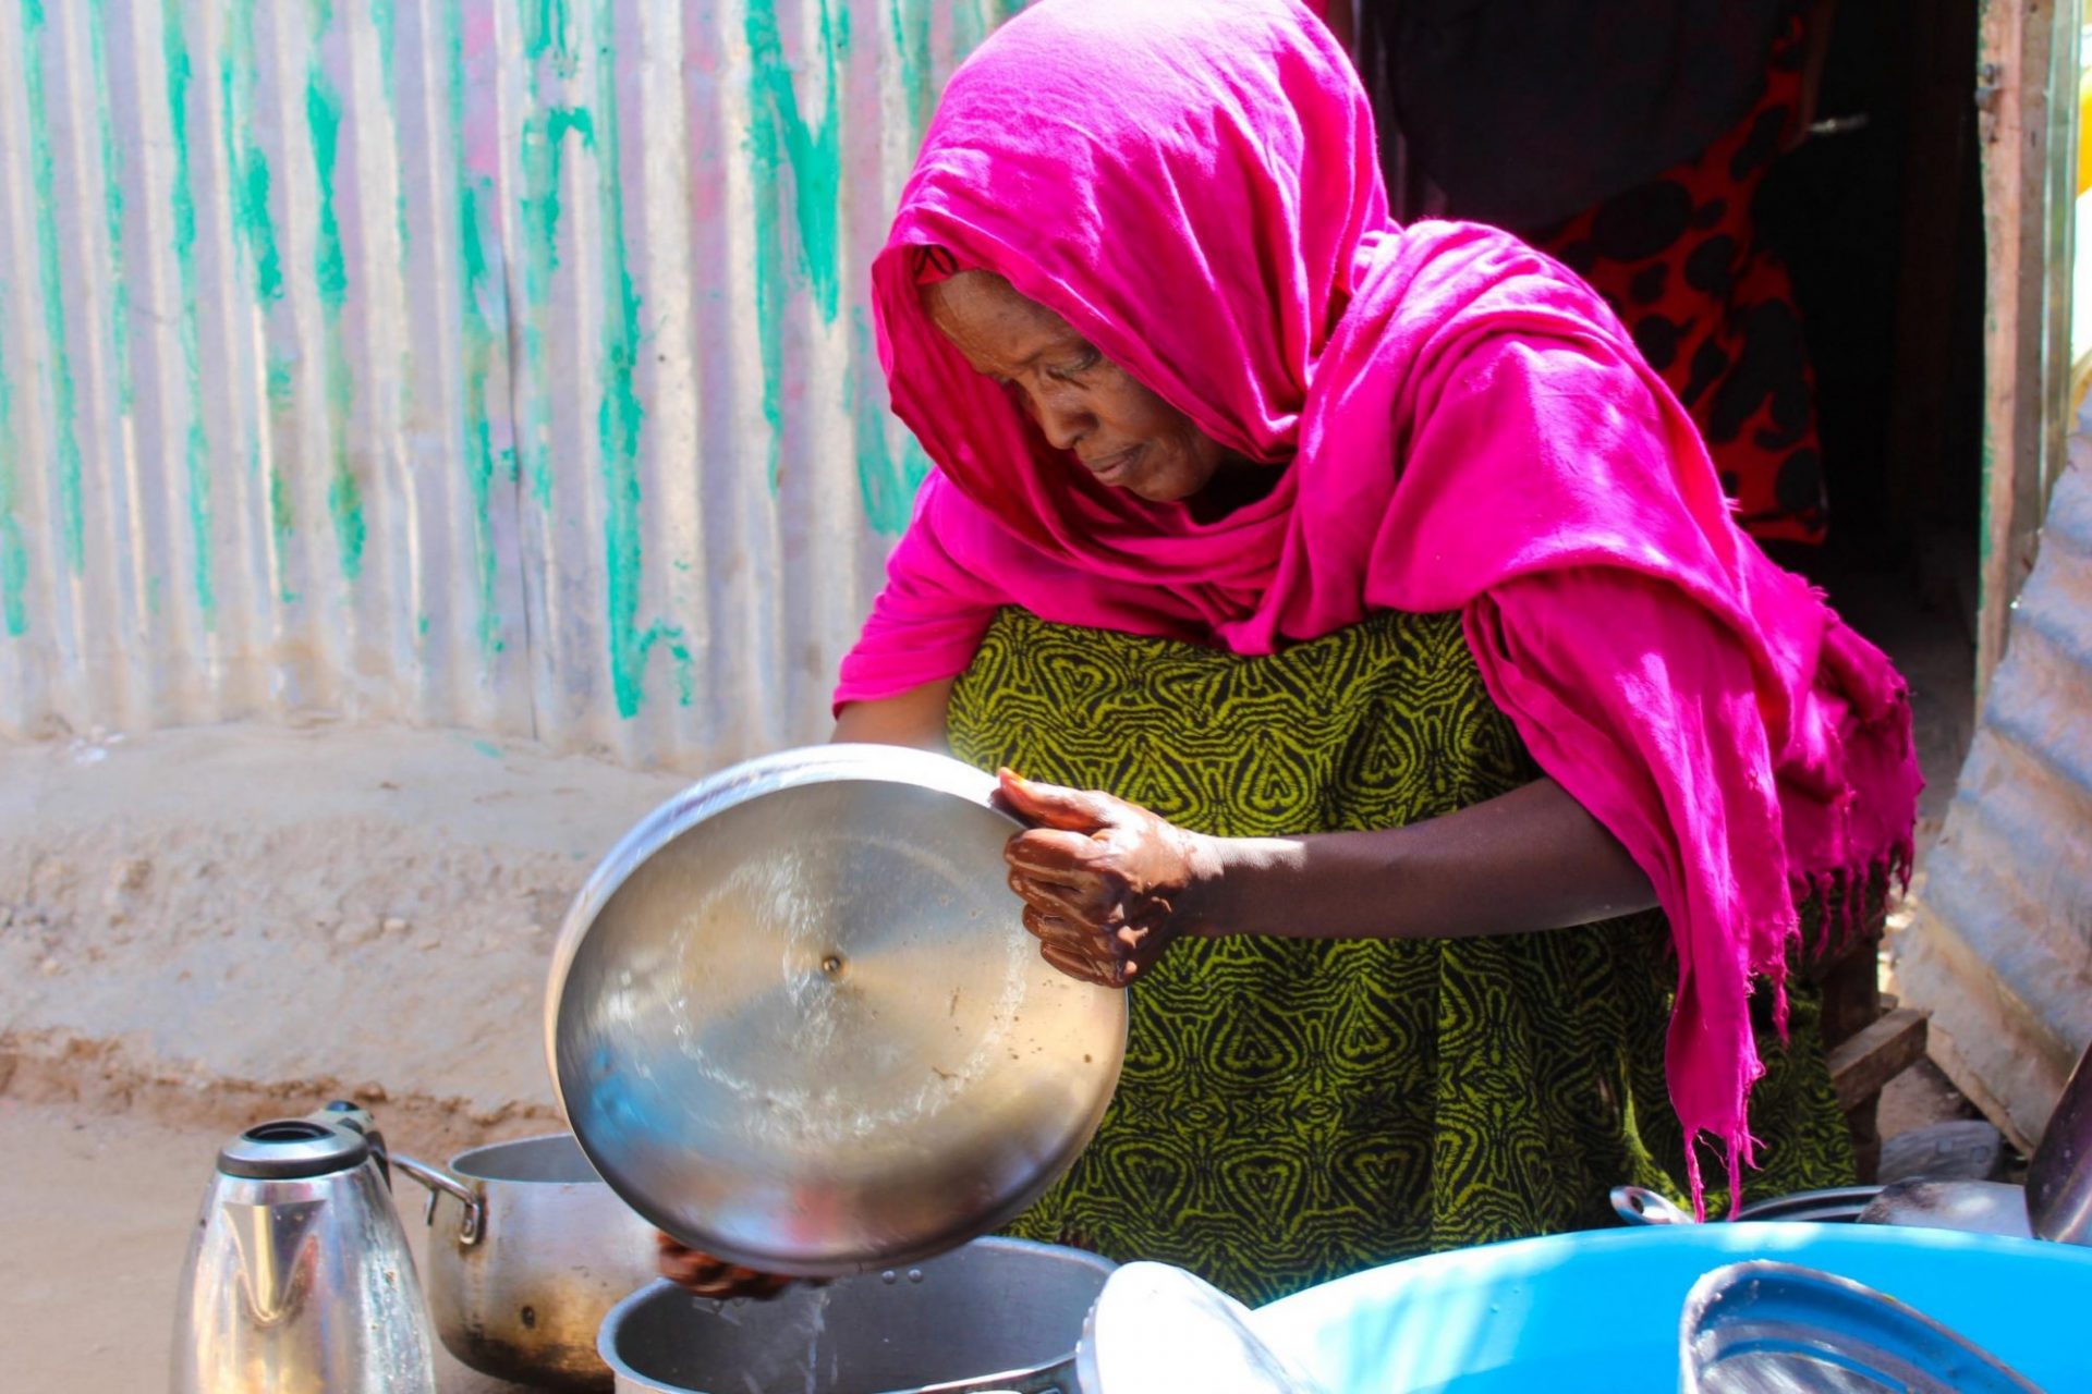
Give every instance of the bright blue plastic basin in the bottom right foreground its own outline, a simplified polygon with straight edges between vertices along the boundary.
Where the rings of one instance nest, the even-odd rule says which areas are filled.
[[[1918,1308],[2048,1394],[2092,1392],[2092,1250],[1874,1225],[1690,1225],[1431,1254],[1257,1310],[1331,1394],[1678,1388],[1678,1315],[1707,1273],[1778,1258]]]

